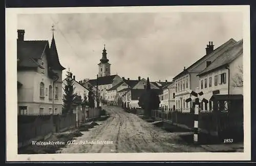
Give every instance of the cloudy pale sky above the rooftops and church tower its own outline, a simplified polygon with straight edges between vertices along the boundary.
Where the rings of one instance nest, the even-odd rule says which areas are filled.
[[[164,13],[68,13],[19,14],[17,29],[25,40],[54,38],[66,77],[68,68],[76,80],[95,79],[105,49],[111,75],[151,81],[172,79],[215,48],[233,38],[243,38],[239,12]]]

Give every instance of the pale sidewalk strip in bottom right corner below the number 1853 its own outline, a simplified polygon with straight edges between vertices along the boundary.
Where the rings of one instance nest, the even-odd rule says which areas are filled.
[[[209,152],[244,152],[243,143],[219,144],[219,145],[200,145]]]

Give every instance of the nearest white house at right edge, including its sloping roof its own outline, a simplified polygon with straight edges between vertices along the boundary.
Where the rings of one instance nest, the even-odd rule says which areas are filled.
[[[213,94],[243,95],[243,40],[233,44],[199,75],[199,88],[209,101]],[[212,110],[212,102],[201,110]]]

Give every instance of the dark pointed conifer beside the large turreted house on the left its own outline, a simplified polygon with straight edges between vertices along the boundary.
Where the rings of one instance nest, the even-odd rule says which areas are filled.
[[[75,103],[76,93],[74,93],[75,87],[73,86],[73,80],[70,78],[70,73],[66,79],[66,84],[64,89],[64,94],[62,96],[63,105],[62,105],[62,114],[73,113],[72,106]]]

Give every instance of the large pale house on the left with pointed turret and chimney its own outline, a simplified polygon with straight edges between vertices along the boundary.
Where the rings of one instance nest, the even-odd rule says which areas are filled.
[[[62,111],[62,70],[54,36],[48,40],[24,40],[18,30],[18,114],[47,115]]]

